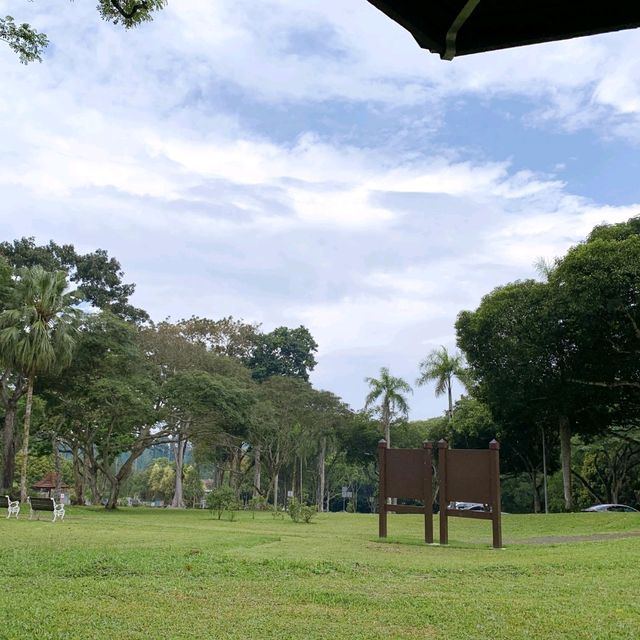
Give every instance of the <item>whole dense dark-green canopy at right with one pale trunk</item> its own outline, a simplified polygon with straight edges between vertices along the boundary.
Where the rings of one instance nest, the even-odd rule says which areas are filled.
[[[640,222],[596,227],[543,282],[498,287],[456,322],[475,393],[521,455],[559,430],[572,508],[571,434],[637,425],[640,402]],[[505,431],[506,430],[506,431]]]

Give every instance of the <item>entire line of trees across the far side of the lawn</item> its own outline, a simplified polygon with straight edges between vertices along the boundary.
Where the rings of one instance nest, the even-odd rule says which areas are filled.
[[[361,411],[315,389],[305,327],[154,323],[105,251],[2,243],[1,488],[24,497],[30,465],[51,456],[79,502],[108,508],[123,491],[192,505],[208,478],[244,503],[373,510],[381,437],[472,448],[496,437],[509,510],[637,504],[640,219],[596,227],[540,271],[459,314],[461,353],[434,349],[416,380],[447,407],[409,422],[412,388],[385,367]],[[149,464],[158,449],[170,463]]]

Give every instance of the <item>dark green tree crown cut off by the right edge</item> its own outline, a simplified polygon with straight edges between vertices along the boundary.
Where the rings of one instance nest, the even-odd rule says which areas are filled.
[[[640,217],[596,227],[556,262],[553,303],[572,382],[640,409]],[[606,392],[612,392],[606,394]]]

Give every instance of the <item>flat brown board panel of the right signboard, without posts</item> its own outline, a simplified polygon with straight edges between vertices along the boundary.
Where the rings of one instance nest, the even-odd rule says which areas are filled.
[[[447,500],[491,504],[491,454],[480,449],[447,452]]]

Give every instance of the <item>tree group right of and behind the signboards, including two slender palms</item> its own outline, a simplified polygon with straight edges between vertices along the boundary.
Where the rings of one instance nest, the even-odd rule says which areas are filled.
[[[444,416],[407,423],[412,389],[386,368],[367,379],[366,406],[394,446],[497,438],[509,509],[638,504],[640,218],[596,227],[539,271],[459,314],[461,353],[441,347],[420,363],[416,384],[446,395]],[[455,379],[465,395],[454,402]]]

